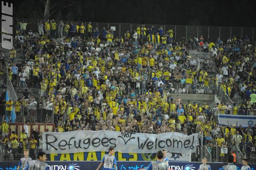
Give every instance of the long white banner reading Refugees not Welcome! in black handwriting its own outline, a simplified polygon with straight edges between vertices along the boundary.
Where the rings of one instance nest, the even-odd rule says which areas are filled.
[[[145,134],[116,131],[44,132],[43,150],[46,153],[74,153],[108,151],[153,153],[165,149],[175,153],[196,152],[198,134],[184,135],[177,132]]]

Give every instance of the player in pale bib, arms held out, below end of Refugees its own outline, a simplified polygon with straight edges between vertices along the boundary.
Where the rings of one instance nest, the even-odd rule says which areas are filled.
[[[112,170],[113,165],[115,167],[115,170],[117,170],[117,167],[116,167],[117,163],[116,163],[114,154],[115,154],[115,149],[112,147],[109,148],[109,154],[103,156],[103,159],[96,170],[99,170],[102,164],[103,164],[102,170]]]

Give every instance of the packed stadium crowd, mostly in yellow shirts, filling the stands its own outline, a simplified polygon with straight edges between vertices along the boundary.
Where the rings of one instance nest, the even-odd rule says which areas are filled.
[[[121,37],[112,29],[93,28],[91,23],[38,23],[38,30],[26,31],[28,23],[16,26],[17,48],[24,62],[15,63],[16,50],[9,59],[1,54],[2,67],[7,67],[13,85],[23,93],[16,103],[6,104],[6,116],[15,109],[17,121],[22,121],[21,106],[27,106],[28,122],[54,122],[55,132],[73,130],[115,130],[121,132],[199,133],[199,144],[210,152],[215,146],[244,150],[246,157],[255,152],[256,124],[218,126],[218,114],[255,115],[256,47],[247,37],[229,38],[227,42],[205,41],[199,38],[174,39],[174,30],[138,25],[133,33]],[[208,76],[211,59],[200,65],[198,56],[191,57],[196,41],[198,48],[210,52],[218,74]],[[30,96],[28,87],[41,88],[40,97]],[[209,93],[223,91],[231,99],[241,95],[239,106],[206,102],[182,101],[174,92],[194,93],[203,89]],[[38,112],[40,106],[42,112]],[[42,114],[41,114],[42,113]],[[51,119],[53,117],[53,120]],[[21,132],[8,134],[9,125],[3,117],[2,142],[17,152],[22,148],[41,146],[39,133],[27,136]],[[11,135],[11,136],[10,136]],[[214,140],[213,140],[214,139]],[[10,144],[10,145],[9,145]],[[15,149],[15,150],[14,150]],[[9,149],[6,149],[6,152]],[[224,157],[224,154],[220,154]]]

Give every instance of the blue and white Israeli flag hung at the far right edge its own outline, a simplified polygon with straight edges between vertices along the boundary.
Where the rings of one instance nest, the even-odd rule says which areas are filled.
[[[229,124],[228,124],[228,123]],[[256,116],[247,115],[232,115],[232,114],[219,114],[219,125],[237,125],[247,127],[248,125],[256,124]]]

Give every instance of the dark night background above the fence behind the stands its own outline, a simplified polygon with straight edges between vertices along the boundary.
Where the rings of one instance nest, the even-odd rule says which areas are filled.
[[[44,0],[8,2],[14,17],[44,18]],[[50,6],[56,20],[256,27],[256,0],[50,0]]]

